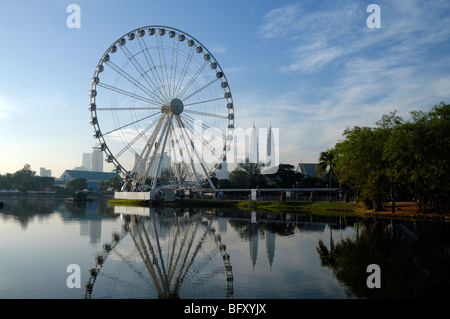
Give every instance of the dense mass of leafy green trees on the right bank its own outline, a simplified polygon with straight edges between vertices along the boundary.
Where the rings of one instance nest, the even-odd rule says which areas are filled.
[[[450,211],[450,105],[396,111],[375,127],[346,129],[343,139],[320,154],[330,179],[349,188],[367,208],[386,201],[415,201],[419,211]]]

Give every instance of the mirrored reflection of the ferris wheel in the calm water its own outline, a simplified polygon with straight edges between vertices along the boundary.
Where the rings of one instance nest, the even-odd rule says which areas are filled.
[[[174,214],[173,210],[155,214],[154,209],[146,215],[122,215],[122,233],[113,234],[112,242],[103,246],[103,254],[96,257],[96,265],[89,271],[85,298],[91,298],[94,284],[100,285],[100,296],[109,290],[108,297],[211,298],[219,293],[218,298],[223,298],[225,289],[225,297],[232,298],[230,256],[211,216]],[[115,266],[105,267],[107,259],[113,259],[109,264],[115,261]],[[201,292],[205,288],[206,293]]]

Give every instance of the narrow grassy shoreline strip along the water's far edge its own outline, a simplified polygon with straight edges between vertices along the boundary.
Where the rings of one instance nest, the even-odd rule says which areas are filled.
[[[362,203],[318,202],[318,201],[250,201],[250,200],[211,200],[178,199],[173,202],[163,200],[111,199],[111,205],[140,207],[207,207],[259,210],[280,213],[313,213],[320,215],[349,215],[403,220],[429,220],[450,222],[450,214],[419,213],[414,203],[396,203],[395,213],[390,210],[373,211],[364,208]],[[385,207],[389,208],[386,204]]]

